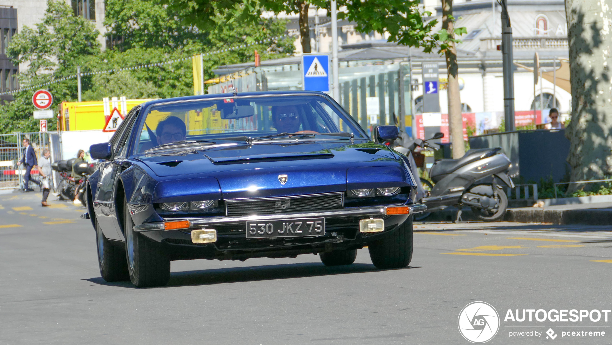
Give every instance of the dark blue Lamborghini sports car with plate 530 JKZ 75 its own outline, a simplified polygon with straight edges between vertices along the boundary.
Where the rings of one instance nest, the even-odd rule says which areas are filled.
[[[154,100],[136,106],[87,182],[106,281],[161,286],[170,261],[295,258],[348,265],[368,247],[378,268],[412,258],[416,184],[408,159],[371,140],[321,92]]]

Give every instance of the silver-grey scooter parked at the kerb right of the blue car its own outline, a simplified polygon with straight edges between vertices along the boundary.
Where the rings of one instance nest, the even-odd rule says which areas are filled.
[[[435,149],[428,141],[443,138],[443,133],[436,133],[427,140],[402,138],[395,150],[409,157],[416,147]],[[507,174],[510,160],[501,152],[501,147],[493,149],[472,149],[459,159],[441,159],[435,161],[429,171],[434,182],[427,193],[429,183],[419,179],[418,184],[425,190],[422,201],[427,211],[457,206],[457,220],[461,220],[463,206],[471,207],[477,218],[484,221],[499,221],[506,214],[508,198],[501,183],[514,188],[512,179]],[[413,159],[414,160],[414,159]],[[421,219],[427,217],[422,216]]]

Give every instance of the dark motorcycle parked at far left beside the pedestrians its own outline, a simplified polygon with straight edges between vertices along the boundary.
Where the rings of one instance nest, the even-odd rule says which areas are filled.
[[[89,175],[94,173],[95,164],[81,162],[75,166],[75,173],[78,174],[79,177],[76,179],[72,177],[72,165],[76,158],[72,158],[69,160],[60,160],[51,164],[51,168],[53,170],[58,171],[59,176],[61,176],[61,180],[56,188],[58,192],[60,200],[74,200],[76,191],[79,191],[79,200],[85,204],[85,193],[84,189],[86,187],[85,182],[88,179]]]

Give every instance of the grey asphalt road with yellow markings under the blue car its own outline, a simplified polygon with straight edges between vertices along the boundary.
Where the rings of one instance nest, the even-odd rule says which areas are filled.
[[[0,195],[0,344],[469,344],[457,319],[474,301],[501,318],[488,344],[550,342],[549,328],[553,343],[612,343],[612,314],[504,320],[509,309],[612,309],[607,226],[416,224],[407,269],[377,270],[367,249],[330,268],[313,255],[173,261],[168,286],[135,289],[100,278],[83,208],[39,200]],[[584,329],[606,335],[561,336]],[[543,334],[510,336],[532,330]]]

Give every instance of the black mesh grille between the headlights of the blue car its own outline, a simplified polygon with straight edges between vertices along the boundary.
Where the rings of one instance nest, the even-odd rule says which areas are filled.
[[[285,198],[226,201],[228,216],[332,210],[342,208],[343,193],[290,196]]]

